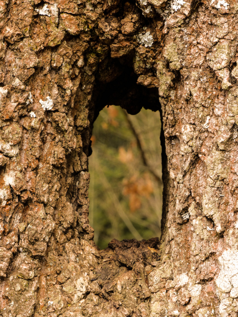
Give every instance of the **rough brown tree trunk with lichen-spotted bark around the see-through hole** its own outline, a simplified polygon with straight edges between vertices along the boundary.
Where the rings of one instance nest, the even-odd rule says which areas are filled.
[[[237,316],[229,1],[1,1],[1,317]],[[100,251],[87,156],[109,104],[162,113],[162,236]]]

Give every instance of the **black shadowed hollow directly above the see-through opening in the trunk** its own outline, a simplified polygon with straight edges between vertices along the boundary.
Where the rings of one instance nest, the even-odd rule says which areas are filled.
[[[107,105],[121,106],[129,114],[140,112],[142,107],[157,111],[161,108],[157,88],[138,85],[138,76],[132,68],[134,53],[102,61],[95,75],[93,102],[94,121]]]

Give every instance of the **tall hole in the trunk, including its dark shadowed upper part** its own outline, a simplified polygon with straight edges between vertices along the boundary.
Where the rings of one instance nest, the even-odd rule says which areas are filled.
[[[158,89],[138,85],[128,64],[104,60],[93,93],[89,224],[100,249],[113,238],[147,240],[161,234]]]

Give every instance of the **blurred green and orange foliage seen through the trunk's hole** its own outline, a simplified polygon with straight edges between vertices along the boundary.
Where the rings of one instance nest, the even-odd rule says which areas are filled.
[[[162,185],[143,164],[135,132],[151,169],[162,177],[159,112],[135,116],[105,107],[94,123],[89,157],[89,223],[100,249],[116,238],[160,236]]]

